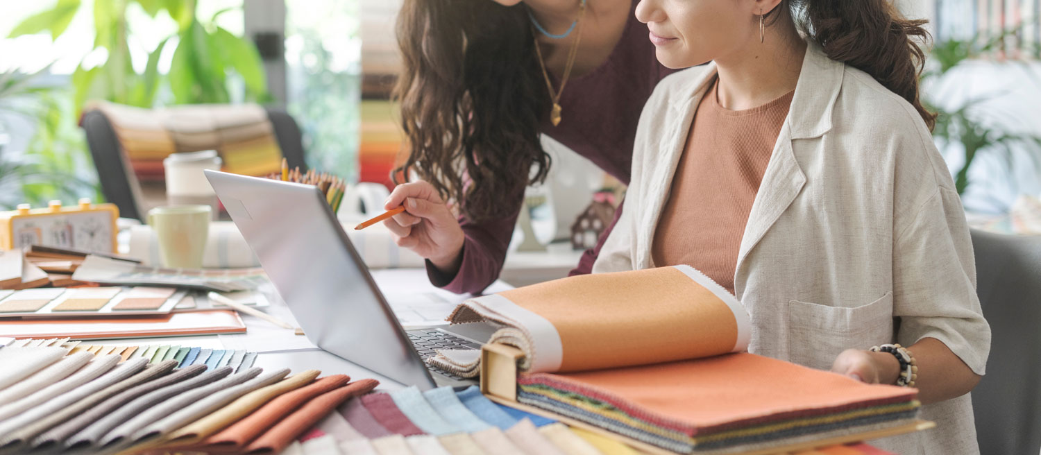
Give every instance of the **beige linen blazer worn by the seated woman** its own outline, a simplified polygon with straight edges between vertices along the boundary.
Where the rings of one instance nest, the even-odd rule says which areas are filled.
[[[626,209],[593,273],[656,267],[651,244],[714,65],[663,79],[633,150]],[[727,153],[719,150],[719,153]],[[943,342],[984,374],[990,327],[961,200],[920,116],[866,73],[809,45],[748,216],[734,275],[748,351],[820,370],[844,349]],[[874,441],[975,454],[968,395],[922,407],[937,428]]]

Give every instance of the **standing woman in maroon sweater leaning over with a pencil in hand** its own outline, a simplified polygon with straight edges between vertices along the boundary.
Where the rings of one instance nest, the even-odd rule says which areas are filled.
[[[636,122],[672,71],[655,58],[635,5],[405,0],[396,96],[411,150],[398,171],[420,180],[395,188],[386,208],[406,212],[385,224],[427,258],[435,285],[480,293],[499,277],[525,187],[549,170],[540,133],[629,183]],[[572,273],[588,273],[598,251]]]

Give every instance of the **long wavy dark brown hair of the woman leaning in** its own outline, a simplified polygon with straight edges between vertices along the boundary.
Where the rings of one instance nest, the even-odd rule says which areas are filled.
[[[393,97],[410,150],[395,182],[415,172],[472,221],[515,214],[503,198],[550,167],[539,142],[550,99],[525,7],[405,0],[398,16]]]

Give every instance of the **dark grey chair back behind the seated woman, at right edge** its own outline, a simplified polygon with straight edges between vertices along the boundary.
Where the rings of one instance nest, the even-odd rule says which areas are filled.
[[[1034,455],[1041,451],[1041,235],[971,235],[992,334],[987,374],[972,389],[980,453]]]

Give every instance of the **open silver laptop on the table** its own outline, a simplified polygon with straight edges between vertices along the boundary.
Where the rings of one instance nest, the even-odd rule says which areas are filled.
[[[205,173],[311,343],[421,389],[476,383],[425,359],[437,349],[479,349],[493,328],[463,324],[406,331],[316,187]]]

